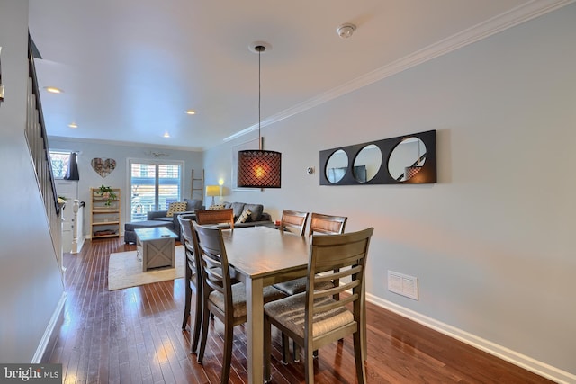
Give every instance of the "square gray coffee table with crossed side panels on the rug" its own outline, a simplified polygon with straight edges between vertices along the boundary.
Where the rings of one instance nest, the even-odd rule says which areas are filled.
[[[142,258],[142,272],[150,268],[174,268],[175,239],[177,236],[165,227],[139,228],[136,232],[137,255]]]

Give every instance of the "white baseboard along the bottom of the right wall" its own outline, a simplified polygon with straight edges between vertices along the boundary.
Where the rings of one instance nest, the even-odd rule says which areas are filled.
[[[510,350],[502,345],[492,343],[489,340],[482,339],[476,335],[472,335],[468,332],[458,329],[455,326],[449,326],[445,323],[435,320],[434,318],[427,317],[419,314],[409,308],[404,308],[398,304],[394,304],[391,301],[378,298],[374,295],[366,293],[366,300],[374,303],[375,305],[391,310],[402,317],[410,318],[410,320],[416,321],[417,323],[428,326],[444,335],[455,338],[465,344],[470,344],[486,353],[490,353],[502,360],[511,362],[518,367],[522,367],[527,371],[532,371],[546,379],[553,380],[559,384],[569,384],[576,382],[576,375],[555,368],[545,362],[539,362],[536,359],[528,357],[522,353],[518,353]]]

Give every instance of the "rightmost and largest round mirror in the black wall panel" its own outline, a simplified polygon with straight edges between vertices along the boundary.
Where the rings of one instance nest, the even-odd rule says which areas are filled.
[[[397,182],[410,180],[426,161],[426,146],[419,138],[404,138],[388,159],[388,172]]]

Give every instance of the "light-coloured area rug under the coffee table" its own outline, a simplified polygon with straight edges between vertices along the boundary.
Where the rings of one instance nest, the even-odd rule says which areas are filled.
[[[184,246],[175,247],[175,268],[155,268],[142,272],[142,262],[136,251],[110,255],[108,263],[108,290],[121,290],[158,281],[168,281],[185,276]]]

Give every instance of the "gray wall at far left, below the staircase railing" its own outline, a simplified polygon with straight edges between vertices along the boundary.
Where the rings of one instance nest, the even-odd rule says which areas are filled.
[[[32,362],[64,288],[24,138],[28,2],[0,3],[4,103],[0,105],[0,362]],[[41,351],[40,351],[41,353]]]

